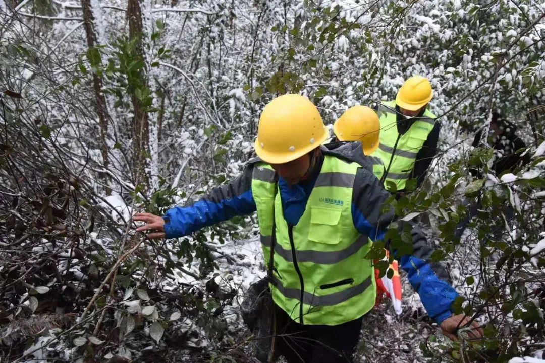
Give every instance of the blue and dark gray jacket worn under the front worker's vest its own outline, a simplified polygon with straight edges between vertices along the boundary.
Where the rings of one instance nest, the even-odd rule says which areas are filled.
[[[353,187],[354,226],[360,233],[370,236],[373,240],[383,239],[384,231],[394,217],[393,212],[382,212],[382,205],[390,194],[374,176],[372,160],[363,154],[361,144],[346,143],[332,150],[322,146],[322,154],[356,161],[362,166],[356,173]],[[168,210],[164,216],[167,238],[186,236],[203,227],[255,212],[256,203],[252,197],[251,185],[253,167],[257,161],[260,160],[250,160],[238,178],[216,187],[195,204]],[[305,211],[308,196],[322,168],[322,162],[323,155],[318,160],[315,171],[304,183],[290,186],[282,178],[278,179],[284,218],[289,224],[297,224]],[[458,294],[451,286],[449,274],[445,269],[440,264],[429,262],[433,250],[428,246],[422,231],[413,227],[411,234],[413,253],[396,255],[396,258],[407,272],[410,284],[419,293],[428,315],[440,324],[452,315],[451,305]],[[395,254],[395,251],[392,253]]]

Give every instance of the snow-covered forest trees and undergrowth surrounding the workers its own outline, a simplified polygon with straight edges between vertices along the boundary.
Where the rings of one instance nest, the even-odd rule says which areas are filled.
[[[264,276],[255,216],[152,242],[130,215],[237,176],[278,94],[331,125],[413,74],[432,82],[440,152],[392,204],[486,338],[446,341],[405,284],[402,316],[386,303],[364,320],[358,359],[541,361],[544,18],[536,0],[0,0],[0,361],[253,361],[239,303]],[[492,109],[531,155],[506,176],[486,140],[471,147]]]

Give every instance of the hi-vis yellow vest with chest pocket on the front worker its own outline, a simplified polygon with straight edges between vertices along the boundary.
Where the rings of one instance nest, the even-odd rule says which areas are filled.
[[[284,220],[274,171],[256,164],[252,195],[265,262],[269,263],[272,203],[276,219],[272,299],[296,322],[338,325],[373,308],[376,281],[364,256],[371,240],[352,219],[352,190],[359,165],[325,155],[305,212],[295,226]],[[274,201],[273,201],[274,199]]]

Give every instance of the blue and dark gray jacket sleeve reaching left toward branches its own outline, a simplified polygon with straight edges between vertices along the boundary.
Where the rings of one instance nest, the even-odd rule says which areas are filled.
[[[166,237],[186,236],[203,227],[255,212],[252,172],[253,164],[249,164],[238,178],[213,189],[197,203],[168,210],[163,217]]]

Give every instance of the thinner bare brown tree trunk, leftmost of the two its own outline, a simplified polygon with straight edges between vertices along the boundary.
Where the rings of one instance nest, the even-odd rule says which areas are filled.
[[[96,33],[94,29],[94,16],[91,9],[90,0],[81,0],[81,7],[83,9],[83,24],[85,27],[85,33],[87,35],[87,46],[90,48],[95,47],[96,45]],[[96,113],[99,116],[99,125],[100,125],[100,150],[102,152],[102,162],[104,163],[104,168],[108,168],[108,145],[106,143],[106,135],[108,135],[108,119],[110,115],[108,114],[108,108],[106,106],[106,98],[104,93],[102,93],[102,78],[100,78],[96,73],[93,73],[93,89],[95,92],[95,109]],[[107,174],[100,173],[101,179],[104,179],[105,184],[107,183]],[[106,187],[106,194],[110,195],[111,191],[109,187]]]

